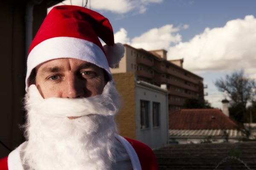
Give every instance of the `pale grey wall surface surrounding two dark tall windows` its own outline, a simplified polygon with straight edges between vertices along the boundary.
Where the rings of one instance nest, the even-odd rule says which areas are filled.
[[[140,128],[140,100],[149,101],[150,123],[146,129]],[[160,127],[153,127],[153,102],[160,103]],[[168,144],[168,94],[166,92],[141,84],[136,85],[136,137],[152,149]]]

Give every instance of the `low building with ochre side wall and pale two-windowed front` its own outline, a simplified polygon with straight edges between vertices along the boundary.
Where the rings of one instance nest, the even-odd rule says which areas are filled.
[[[137,81],[134,73],[113,74],[123,106],[116,116],[120,135],[152,149],[168,144],[168,91]]]

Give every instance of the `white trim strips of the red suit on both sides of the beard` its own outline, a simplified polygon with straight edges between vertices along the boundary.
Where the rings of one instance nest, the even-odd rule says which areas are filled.
[[[130,156],[133,169],[141,170],[140,160],[139,160],[134,148],[131,146],[131,144],[125,138],[123,138],[122,136],[119,136],[118,134],[115,134],[115,137],[125,147],[128,155]],[[17,147],[15,150],[13,150],[9,154],[9,156],[8,156],[8,169],[9,170],[24,170],[22,163],[21,163],[20,152],[21,152],[21,150],[23,150],[23,147],[26,147],[26,143],[27,142],[23,142],[22,144],[20,144],[19,147]]]

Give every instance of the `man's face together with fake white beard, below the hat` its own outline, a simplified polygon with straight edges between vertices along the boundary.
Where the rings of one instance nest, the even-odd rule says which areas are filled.
[[[120,104],[113,82],[105,87],[104,70],[65,58],[44,62],[33,74],[37,89],[31,86],[24,102],[28,139],[24,163],[35,170],[110,169],[117,131],[114,116]]]

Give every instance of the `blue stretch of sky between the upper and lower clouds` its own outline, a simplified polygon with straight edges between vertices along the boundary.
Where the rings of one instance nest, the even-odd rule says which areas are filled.
[[[129,37],[139,36],[150,28],[166,24],[188,24],[189,29],[180,32],[183,40],[188,41],[207,27],[222,27],[229,20],[244,18],[246,15],[256,16],[255,9],[255,0],[164,0],[151,3],[143,14],[130,11],[120,16],[111,11],[98,11],[108,17],[114,31],[125,28]]]

